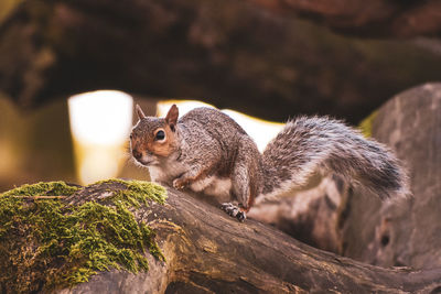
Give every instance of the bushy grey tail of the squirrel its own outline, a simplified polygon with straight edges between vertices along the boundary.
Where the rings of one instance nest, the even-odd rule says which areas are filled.
[[[263,196],[304,186],[315,173],[335,173],[386,199],[409,195],[394,153],[343,122],[323,117],[289,121],[263,151]]]

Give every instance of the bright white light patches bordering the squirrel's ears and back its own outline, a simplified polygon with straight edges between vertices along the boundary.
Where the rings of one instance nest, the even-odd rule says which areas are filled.
[[[197,107],[211,107],[214,106],[201,102],[201,101],[178,101],[168,100],[158,104],[158,116],[165,117],[170,107],[175,104],[179,107],[180,117],[189,112],[190,110]],[[257,148],[262,152],[269,141],[271,141],[283,128],[283,123],[277,123],[271,121],[261,120],[250,116],[246,116],[238,111],[225,109],[222,110],[224,113],[233,118],[244,130],[255,140]]]

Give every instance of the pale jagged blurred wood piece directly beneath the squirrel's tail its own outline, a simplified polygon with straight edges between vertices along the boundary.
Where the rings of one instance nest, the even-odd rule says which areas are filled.
[[[260,203],[248,215],[304,243],[342,254],[344,244],[340,226],[349,192],[347,184],[330,175],[316,187]]]

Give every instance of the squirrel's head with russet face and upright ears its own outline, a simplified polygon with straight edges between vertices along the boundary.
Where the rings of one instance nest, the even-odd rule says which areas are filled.
[[[158,165],[176,150],[179,110],[173,105],[165,118],[147,117],[137,105],[139,121],[130,134],[133,157],[142,165]]]

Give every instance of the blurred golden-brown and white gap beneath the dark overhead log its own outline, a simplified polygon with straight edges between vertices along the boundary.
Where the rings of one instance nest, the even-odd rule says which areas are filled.
[[[137,99],[118,90],[96,90],[21,110],[8,99],[0,106],[0,187],[64,179],[82,185],[125,177],[149,181],[147,168],[133,163],[129,134],[139,104],[150,116],[165,117],[176,104],[183,116],[196,107],[214,107],[196,100]],[[223,110],[265,146],[283,127],[241,112]]]

